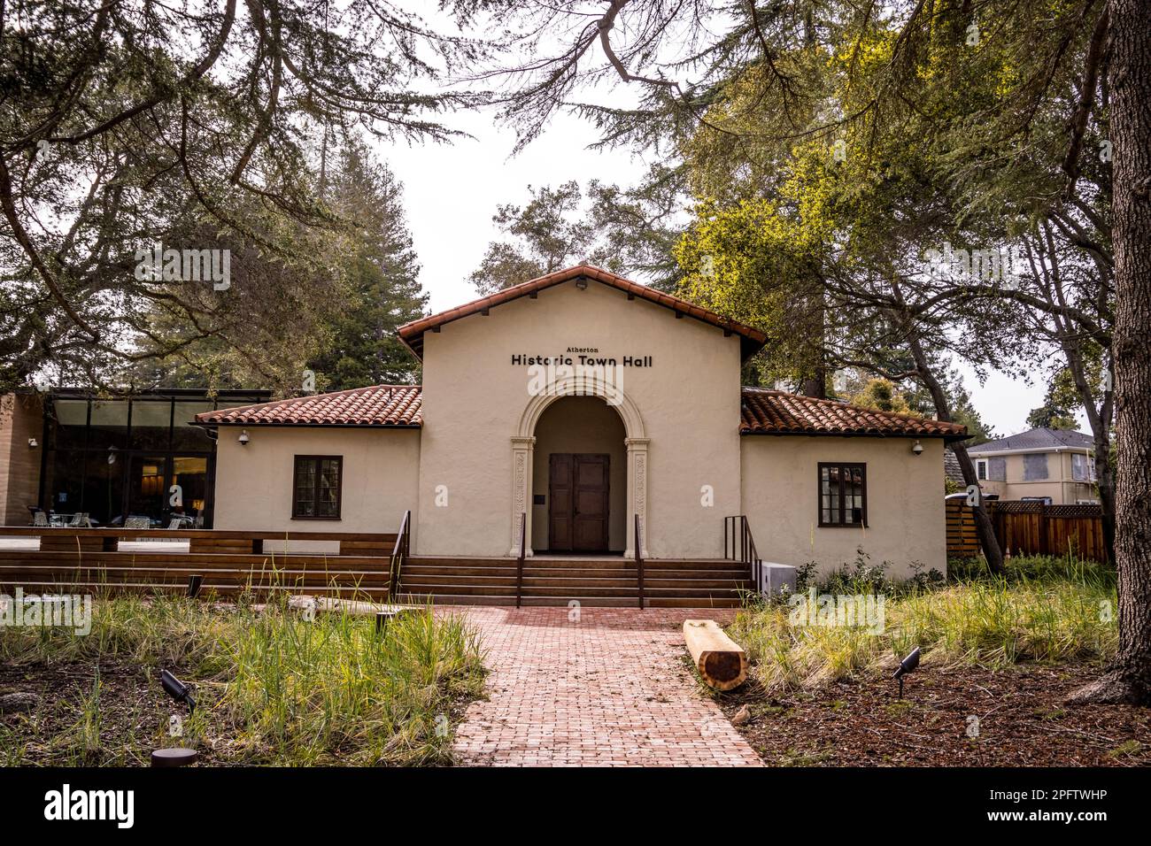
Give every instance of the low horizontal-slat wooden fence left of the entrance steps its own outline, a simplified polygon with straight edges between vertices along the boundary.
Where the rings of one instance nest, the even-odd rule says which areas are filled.
[[[43,528],[0,526],[0,538],[26,543],[0,548],[0,593],[66,588],[186,590],[200,595],[252,590],[384,600],[396,534],[231,532],[216,529]],[[188,551],[157,542],[186,540]],[[143,541],[143,542],[142,542]],[[291,541],[329,541],[338,552],[292,552]],[[131,543],[131,549],[125,549]]]

